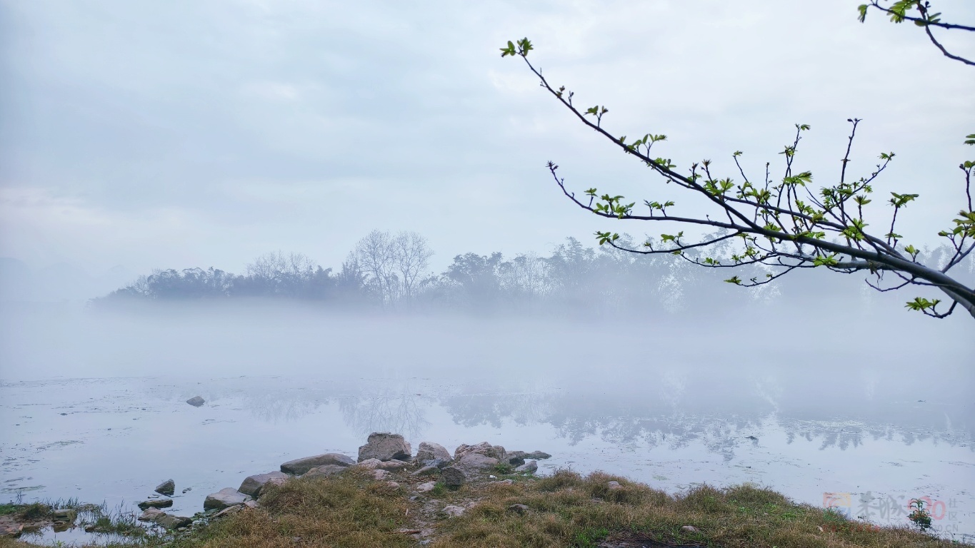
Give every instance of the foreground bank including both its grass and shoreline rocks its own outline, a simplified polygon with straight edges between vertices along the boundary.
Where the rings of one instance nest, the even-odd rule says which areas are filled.
[[[335,454],[298,458],[282,464],[280,472],[249,477],[239,489],[211,494],[205,511],[192,518],[170,516],[167,520],[165,512],[149,508],[139,516],[149,525],[147,534],[110,537],[108,545],[960,545],[917,530],[910,522],[891,528],[851,521],[834,510],[798,504],[752,485],[724,489],[699,486],[674,495],[603,472],[582,476],[560,470],[536,477],[534,461],[526,460],[526,455],[483,443],[462,445],[450,456],[436,444],[421,444],[413,457],[402,436],[373,434],[360,449],[358,462]],[[538,457],[547,456],[538,452]],[[7,508],[9,517],[27,507]],[[33,512],[35,522],[45,517],[44,508],[35,505]],[[119,522],[129,523],[131,519],[123,517]],[[0,548],[29,546],[36,546],[30,543],[29,534],[22,539],[0,539]]]

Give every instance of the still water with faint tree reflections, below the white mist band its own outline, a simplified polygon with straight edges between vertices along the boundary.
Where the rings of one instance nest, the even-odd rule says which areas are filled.
[[[192,515],[208,493],[248,475],[294,457],[355,456],[371,431],[388,430],[413,447],[542,450],[553,455],[539,462],[542,473],[604,470],[672,493],[753,482],[814,505],[833,497],[851,516],[883,524],[906,523],[908,501],[927,496],[938,530],[975,533],[970,402],[917,398],[930,390],[915,388],[882,399],[851,394],[814,412],[802,380],[735,378],[7,382],[0,493],[124,505],[173,478],[167,511]],[[716,383],[721,397],[708,388]],[[197,394],[206,405],[184,403]]]

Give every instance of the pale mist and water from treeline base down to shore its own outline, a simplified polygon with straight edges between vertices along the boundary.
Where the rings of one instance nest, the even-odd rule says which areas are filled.
[[[852,493],[851,516],[878,523],[930,496],[954,501],[943,532],[975,532],[975,348],[962,322],[872,313],[836,332],[794,327],[777,307],[716,310],[8,307],[0,489],[119,503],[174,477],[176,509],[193,512],[247,475],[355,456],[388,430],[414,447],[542,450],[543,472],[602,469],[670,492],[755,482],[816,505]],[[186,405],[194,395],[207,404]]]

